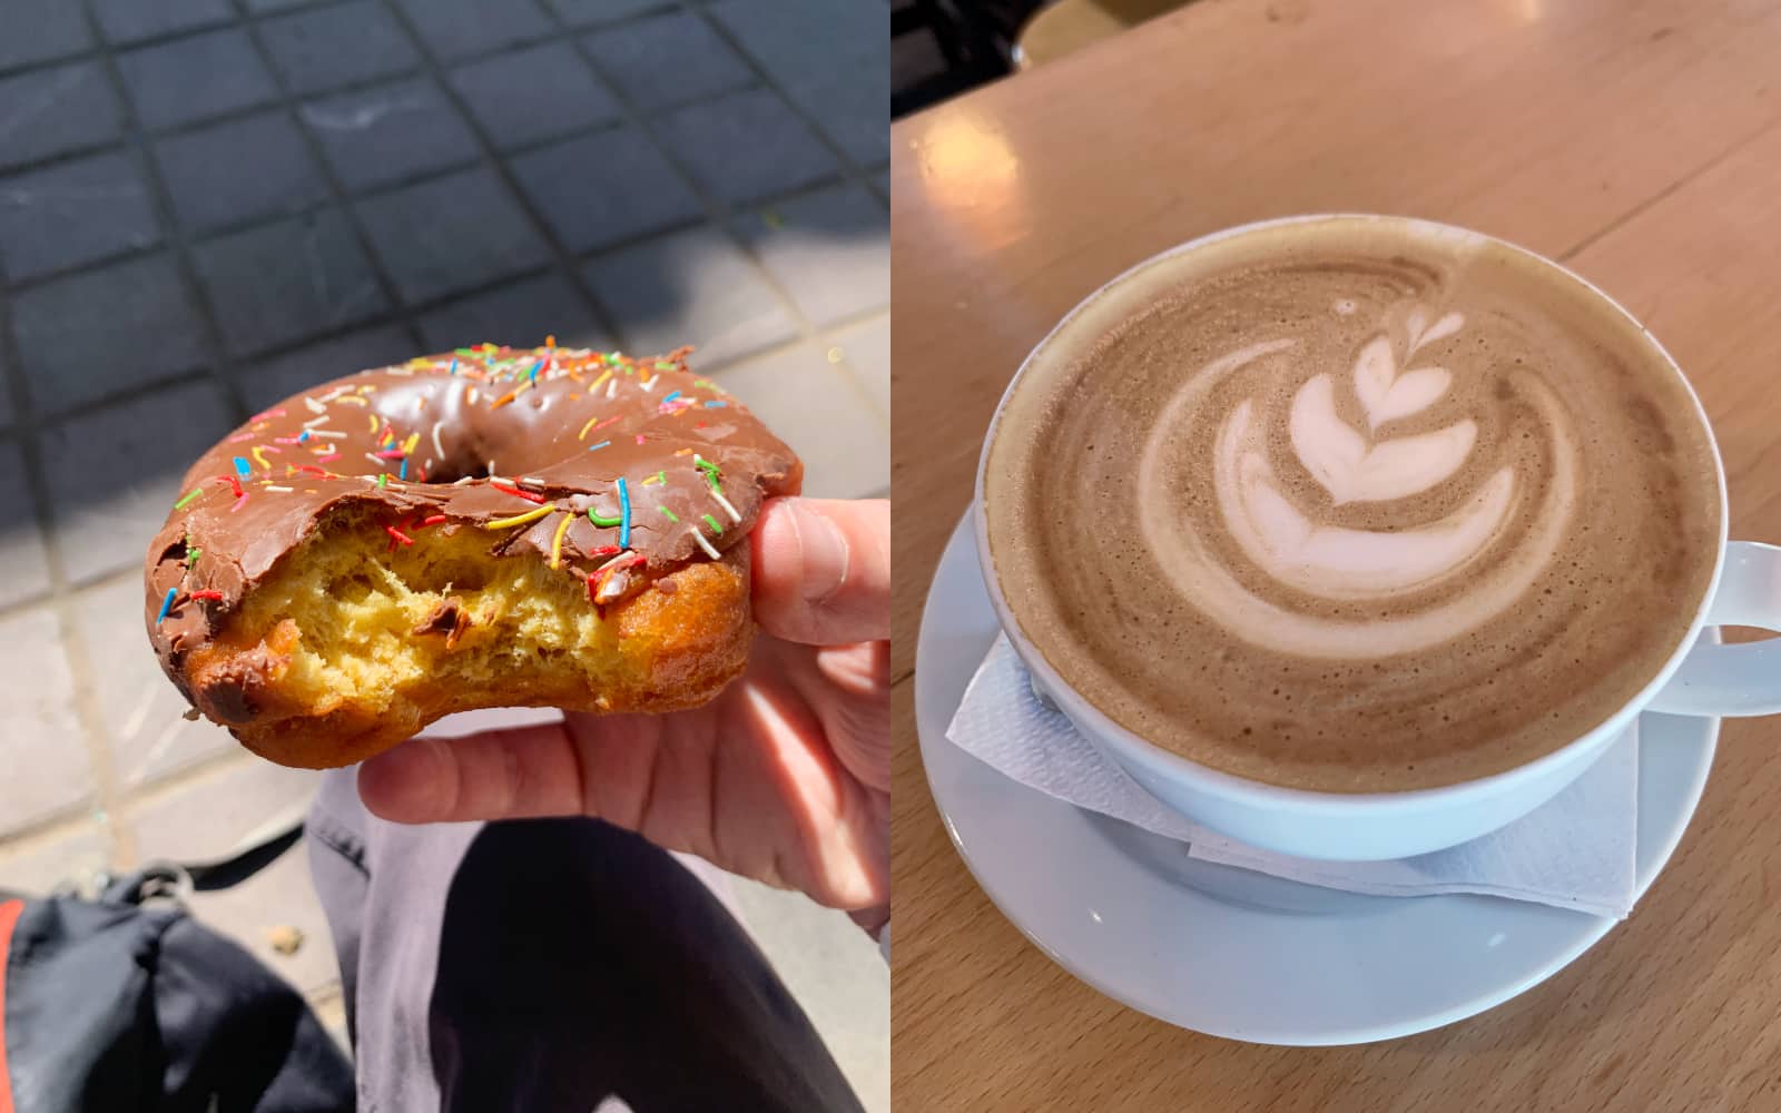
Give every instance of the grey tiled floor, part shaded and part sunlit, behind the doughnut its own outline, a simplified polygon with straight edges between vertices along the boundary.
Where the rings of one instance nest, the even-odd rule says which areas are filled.
[[[18,9],[18,11],[12,11]],[[139,559],[249,411],[495,340],[698,344],[816,495],[889,486],[882,0],[11,0],[0,885],[226,851],[312,780],[185,723]],[[889,979],[739,887],[869,1108]],[[299,855],[196,905],[338,1015]],[[267,931],[294,926],[285,956]]]

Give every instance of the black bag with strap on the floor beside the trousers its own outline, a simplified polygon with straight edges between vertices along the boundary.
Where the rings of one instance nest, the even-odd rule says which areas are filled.
[[[353,1067],[303,995],[167,899],[240,881],[301,832],[96,901],[0,890],[0,1113],[353,1109]]]

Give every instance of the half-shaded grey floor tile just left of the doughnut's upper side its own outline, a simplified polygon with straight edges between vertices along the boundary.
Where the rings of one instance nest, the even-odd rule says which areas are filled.
[[[68,579],[84,584],[141,572],[150,540],[182,493],[185,468],[233,424],[216,386],[187,383],[46,429],[43,468]]]

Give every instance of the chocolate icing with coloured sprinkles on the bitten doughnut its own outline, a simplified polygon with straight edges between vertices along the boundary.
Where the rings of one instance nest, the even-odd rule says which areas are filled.
[[[687,370],[686,351],[481,345],[365,370],[272,406],[192,465],[148,548],[148,632],[180,680],[180,657],[287,552],[354,511],[381,520],[392,547],[486,531],[493,556],[556,559],[604,605],[743,543],[762,499],[796,493],[801,474],[744,406]]]

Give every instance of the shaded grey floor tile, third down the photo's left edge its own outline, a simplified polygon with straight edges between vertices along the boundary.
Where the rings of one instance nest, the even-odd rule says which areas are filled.
[[[130,155],[109,151],[0,178],[0,262],[14,281],[159,239],[148,183]]]

